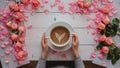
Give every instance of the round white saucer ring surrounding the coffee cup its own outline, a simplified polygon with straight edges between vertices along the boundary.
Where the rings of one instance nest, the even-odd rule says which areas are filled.
[[[50,31],[56,27],[56,26],[65,26],[68,28],[68,30],[70,31],[70,42],[69,44],[67,44],[66,46],[64,47],[56,47],[54,46],[51,42],[50,42]],[[68,50],[70,47],[71,47],[71,44],[72,44],[72,34],[74,34],[74,30],[73,28],[68,24],[68,23],[65,23],[65,22],[57,22],[57,23],[54,23],[52,24],[48,30],[46,31],[46,38],[48,39],[48,45],[51,49],[55,50],[55,51],[66,51]]]

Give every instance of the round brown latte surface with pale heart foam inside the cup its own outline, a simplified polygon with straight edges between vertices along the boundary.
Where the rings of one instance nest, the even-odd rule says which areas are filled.
[[[51,31],[50,36],[54,43],[61,45],[68,41],[70,33],[65,27],[58,26]]]

